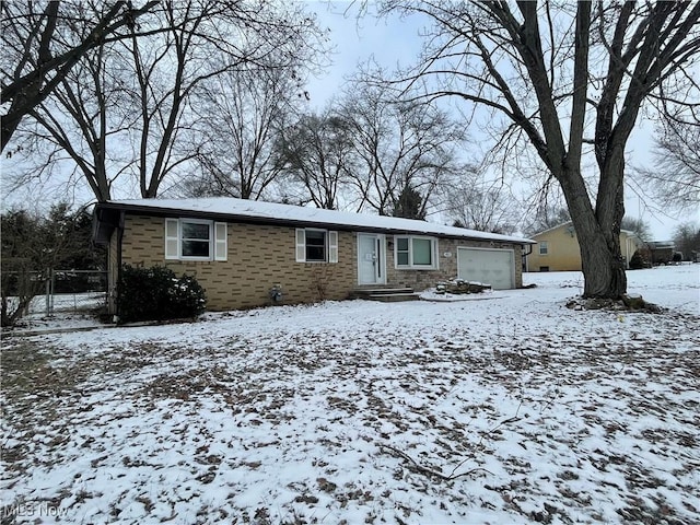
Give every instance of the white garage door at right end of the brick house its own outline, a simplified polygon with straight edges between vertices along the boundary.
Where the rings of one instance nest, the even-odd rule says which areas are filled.
[[[457,277],[491,284],[494,290],[515,288],[512,249],[457,248]]]

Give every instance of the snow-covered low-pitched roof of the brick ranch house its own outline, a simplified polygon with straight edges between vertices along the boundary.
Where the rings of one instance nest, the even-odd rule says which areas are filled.
[[[346,211],[324,210],[303,206],[262,202],[259,200],[234,199],[230,197],[209,197],[195,199],[133,199],[109,200],[95,207],[97,222],[106,221],[115,225],[115,211],[133,213],[201,217],[229,222],[248,222],[258,224],[280,224],[294,226],[320,225],[336,230],[368,232],[412,233],[464,237],[482,241],[500,241],[515,244],[536,244],[535,241],[479,232],[465,228],[445,226],[427,221],[401,219],[397,217],[350,213]],[[100,231],[100,228],[97,228]],[[105,240],[104,235],[96,235]]]

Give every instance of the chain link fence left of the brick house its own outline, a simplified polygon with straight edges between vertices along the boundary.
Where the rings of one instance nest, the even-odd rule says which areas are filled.
[[[33,295],[24,314],[84,313],[106,307],[107,272],[100,270],[3,271],[9,305]]]

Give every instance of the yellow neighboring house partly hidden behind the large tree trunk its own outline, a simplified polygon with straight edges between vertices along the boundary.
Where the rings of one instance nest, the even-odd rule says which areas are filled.
[[[545,230],[533,240],[537,242],[533,246],[532,254],[527,255],[527,271],[580,271],[581,250],[579,238],[572,222],[567,222],[549,230]],[[638,248],[644,243],[627,230],[620,231],[620,249],[625,258],[625,267],[629,268],[630,259]]]

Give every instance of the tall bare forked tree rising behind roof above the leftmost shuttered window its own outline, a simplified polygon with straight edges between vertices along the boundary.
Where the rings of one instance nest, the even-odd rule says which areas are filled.
[[[199,151],[180,149],[178,139],[199,118],[188,109],[201,84],[225,72],[296,67],[315,51],[315,24],[299,5],[174,3],[166,4],[164,18],[171,32],[158,50],[139,38],[129,48],[141,115],[138,178],[144,198],[155,197],[166,176],[199,156]]]

